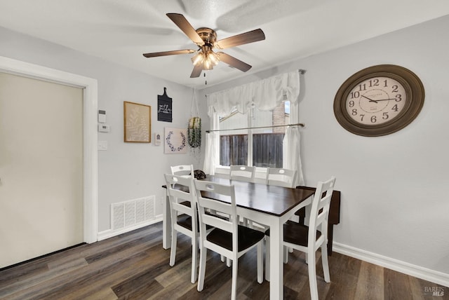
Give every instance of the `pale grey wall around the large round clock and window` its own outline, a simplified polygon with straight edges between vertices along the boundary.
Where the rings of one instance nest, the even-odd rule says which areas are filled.
[[[337,177],[342,191],[337,246],[426,268],[424,272],[442,275],[448,285],[449,41],[443,38],[448,28],[446,16],[212,86],[202,90],[199,99],[216,90],[306,69],[300,95],[304,179],[314,186],[330,175]],[[375,64],[398,64],[414,71],[426,97],[420,115],[403,130],[361,137],[337,123],[333,100],[349,76]]]

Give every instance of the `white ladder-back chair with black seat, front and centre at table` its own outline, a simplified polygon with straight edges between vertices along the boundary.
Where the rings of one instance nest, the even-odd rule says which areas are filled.
[[[257,247],[257,282],[262,283],[264,233],[239,225],[234,186],[197,179],[194,180],[194,184],[198,201],[201,240],[197,289],[199,292],[203,290],[207,250],[212,250],[232,260],[231,299],[234,300],[236,299],[237,289],[238,259],[254,247]],[[208,193],[207,196],[219,196],[220,200],[206,198],[207,196],[202,196],[201,193]],[[224,199],[229,202],[225,202]],[[207,210],[220,212],[220,214],[226,214],[229,217],[224,219],[216,214],[207,214]],[[214,227],[209,234],[206,232],[206,226],[208,225]]]

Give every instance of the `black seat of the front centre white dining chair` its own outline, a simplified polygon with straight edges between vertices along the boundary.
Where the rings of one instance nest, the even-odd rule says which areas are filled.
[[[262,238],[264,238],[264,233],[262,231],[250,229],[245,226],[239,226],[238,231],[239,249],[237,251],[239,252],[257,244],[260,240],[262,240]],[[206,239],[211,243],[215,243],[226,248],[227,250],[232,251],[232,233],[228,231],[217,228],[213,229],[213,231],[208,234]]]

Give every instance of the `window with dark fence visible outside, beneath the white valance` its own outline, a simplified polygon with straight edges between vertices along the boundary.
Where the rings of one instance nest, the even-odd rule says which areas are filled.
[[[233,111],[220,118],[220,165],[283,168],[285,127],[272,126],[289,124],[289,118],[290,102],[282,102],[273,111],[250,109],[248,114]]]

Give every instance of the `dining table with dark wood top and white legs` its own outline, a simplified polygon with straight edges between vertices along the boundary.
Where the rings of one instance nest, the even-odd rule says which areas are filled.
[[[283,299],[283,224],[295,215],[297,210],[311,204],[313,189],[292,189],[252,182],[241,182],[208,175],[206,179],[220,184],[234,186],[237,214],[270,228],[270,299]],[[204,197],[218,198],[213,193]],[[229,199],[220,199],[229,202]],[[163,248],[170,247],[171,221],[170,205],[163,201]]]

